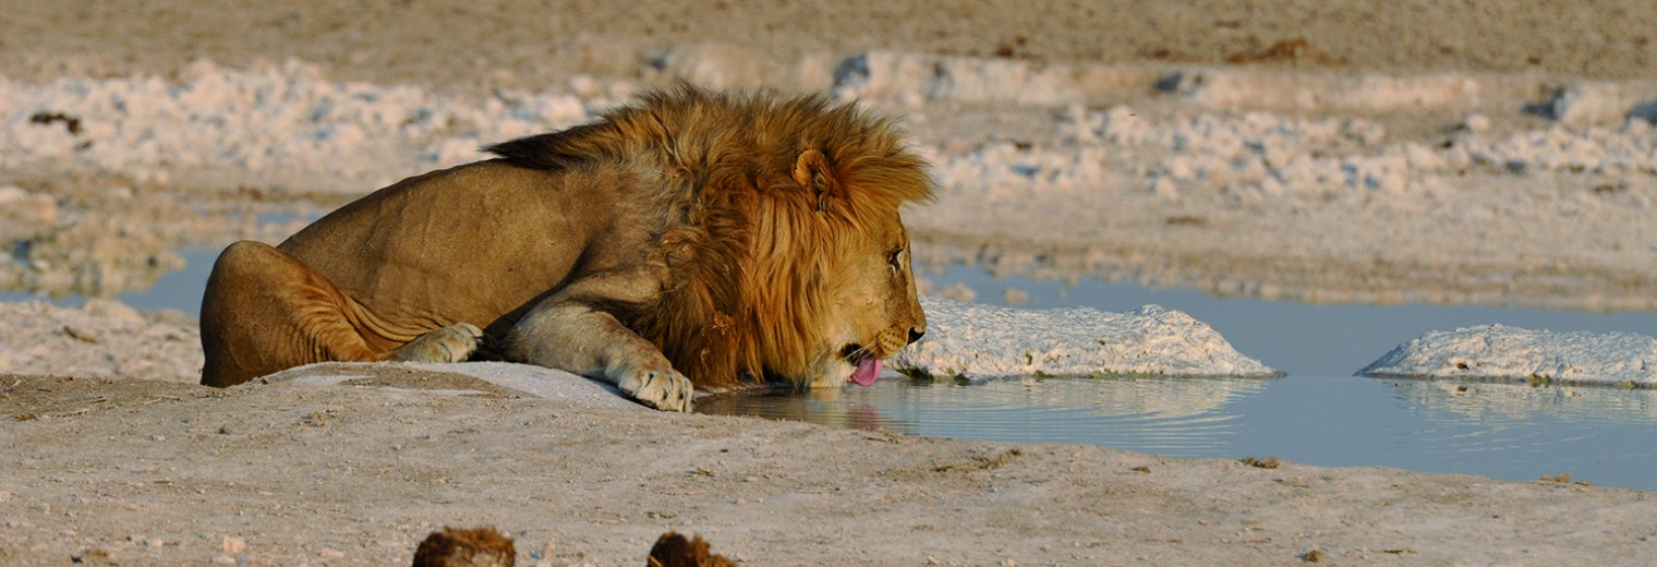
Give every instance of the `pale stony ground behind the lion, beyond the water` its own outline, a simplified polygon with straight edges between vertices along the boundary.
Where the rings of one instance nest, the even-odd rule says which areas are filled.
[[[1241,7],[1118,5],[1097,22],[1012,3],[868,8],[961,30],[928,38],[913,27],[935,20],[853,22],[852,7],[804,33],[772,10],[814,7],[767,3],[567,40],[587,8],[502,23],[423,3],[358,20],[22,5],[0,23],[0,237],[27,240],[13,254],[28,265],[0,260],[0,282],[143,285],[177,267],[177,247],[282,237],[255,216],[326,211],[689,78],[832,90],[905,116],[941,181],[908,217],[921,264],[1302,302],[1657,308],[1657,76],[1642,73],[1649,27],[1632,25],[1657,8]],[[394,25],[360,33],[376,17]],[[1367,43],[1443,22],[1485,33],[1432,56],[1413,51],[1430,40]],[[724,32],[742,23],[777,35]],[[134,35],[146,27],[167,33]],[[535,33],[558,40],[512,40]],[[1014,40],[971,46],[998,36]],[[1584,36],[1599,43],[1572,43]],[[1133,41],[1188,55],[1122,51]]]

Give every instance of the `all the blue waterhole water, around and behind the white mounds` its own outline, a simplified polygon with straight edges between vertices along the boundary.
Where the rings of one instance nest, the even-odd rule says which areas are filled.
[[[217,250],[184,250],[187,267],[156,287],[121,293],[139,308],[197,315]],[[1289,375],[1259,378],[1022,378],[979,385],[888,375],[868,388],[744,393],[701,413],[752,414],[906,434],[1016,443],[1104,444],[1178,458],[1279,458],[1321,466],[1394,466],[1511,481],[1568,472],[1601,486],[1657,491],[1657,391],[1529,388],[1354,378],[1428,330],[1503,323],[1657,335],[1657,313],[1577,313],[1437,305],[1304,305],[1220,298],[1084,280],[1074,287],[993,279],[951,267],[935,284],[978,297],[1029,292],[1027,308],[1143,303],[1213,325],[1239,351]],[[0,293],[0,300],[27,298]],[[78,298],[60,300],[66,305]]]

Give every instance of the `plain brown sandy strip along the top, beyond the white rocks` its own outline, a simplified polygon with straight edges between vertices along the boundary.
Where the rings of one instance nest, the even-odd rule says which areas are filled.
[[[167,73],[197,56],[230,65],[292,56],[381,83],[545,86],[570,73],[636,73],[663,50],[706,41],[775,61],[896,50],[1215,65],[1304,38],[1326,55],[1306,65],[1397,73],[1539,71],[1619,80],[1649,78],[1657,63],[1650,25],[1657,7],[1637,0],[1587,7],[1538,0],[1385,7],[1319,0],[3,5],[0,71],[30,78]]]

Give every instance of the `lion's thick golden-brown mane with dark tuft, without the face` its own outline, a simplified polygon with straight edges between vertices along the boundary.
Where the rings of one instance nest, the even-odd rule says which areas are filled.
[[[820,151],[833,194],[795,181]],[[648,305],[608,305],[699,388],[804,376],[837,285],[825,269],[853,234],[931,197],[926,162],[893,119],[825,96],[678,86],[565,131],[487,151],[525,167],[621,162],[659,211],[651,262],[671,282]],[[870,274],[868,277],[875,277]]]

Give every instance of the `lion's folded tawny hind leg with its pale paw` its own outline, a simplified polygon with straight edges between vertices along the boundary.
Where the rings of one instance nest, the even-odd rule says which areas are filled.
[[[365,328],[371,315],[320,274],[268,244],[227,247],[202,297],[202,385],[234,386],[316,361],[461,361],[477,327],[456,323],[414,337]],[[379,323],[379,322],[376,322]]]

